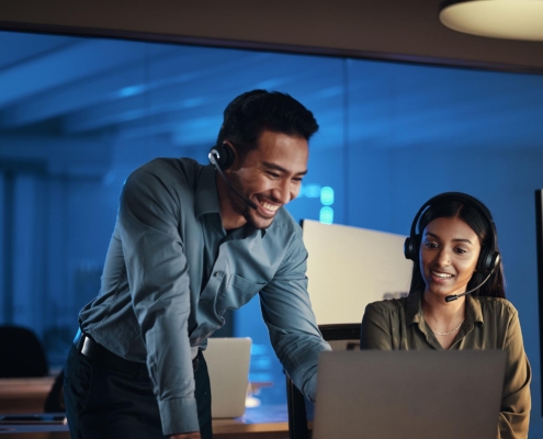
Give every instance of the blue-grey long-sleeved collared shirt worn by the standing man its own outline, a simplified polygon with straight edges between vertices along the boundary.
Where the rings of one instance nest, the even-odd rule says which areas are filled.
[[[273,348],[315,397],[323,340],[307,294],[301,227],[280,209],[270,227],[223,227],[215,169],[156,159],[123,188],[100,294],[83,331],[129,361],[147,362],[165,435],[197,431],[191,359],[223,314],[260,293]]]

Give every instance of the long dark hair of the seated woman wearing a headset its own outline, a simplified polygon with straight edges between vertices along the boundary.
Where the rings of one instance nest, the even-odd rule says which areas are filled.
[[[490,217],[489,211],[486,206],[480,203],[480,206],[476,204],[480,203],[478,200],[474,199],[474,202],[470,202],[466,199],[461,196],[448,195],[443,198],[439,198],[435,202],[432,202],[431,205],[422,213],[420,219],[418,222],[418,230],[419,233],[416,235],[417,239],[417,249],[420,251],[421,237],[425,228],[430,224],[433,219],[437,218],[459,218],[466,223],[473,232],[478,236],[480,243],[480,254],[479,259],[477,261],[477,271],[475,271],[467,283],[466,291],[472,290],[479,285],[486,277],[489,274],[485,272],[482,268],[482,256],[487,255],[489,251],[498,251],[498,236],[495,232],[495,226],[493,219]],[[487,210],[488,214],[485,214],[483,210]],[[504,267],[501,264],[501,258],[494,269],[490,279],[485,282],[478,290],[476,290],[473,294],[479,296],[493,296],[493,297],[505,297],[506,296],[506,288],[505,288],[505,278],[504,278]],[[422,273],[420,272],[420,257],[415,258],[412,263],[412,274],[411,274],[411,285],[409,288],[409,293],[415,291],[425,291],[426,283],[422,278]]]

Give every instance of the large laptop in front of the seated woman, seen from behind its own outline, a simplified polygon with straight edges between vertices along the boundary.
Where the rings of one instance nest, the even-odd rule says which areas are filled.
[[[323,352],[313,439],[496,439],[505,357],[498,350]]]

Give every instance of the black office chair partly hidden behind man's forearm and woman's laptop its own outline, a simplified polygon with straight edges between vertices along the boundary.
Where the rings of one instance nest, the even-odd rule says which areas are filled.
[[[323,338],[332,350],[360,350],[360,323],[319,325]],[[286,375],[290,439],[310,439],[315,405],[297,390]]]

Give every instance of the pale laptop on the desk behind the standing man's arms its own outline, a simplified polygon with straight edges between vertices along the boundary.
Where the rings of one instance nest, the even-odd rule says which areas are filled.
[[[245,414],[251,359],[250,338],[210,338],[204,350],[212,390],[212,417]]]

